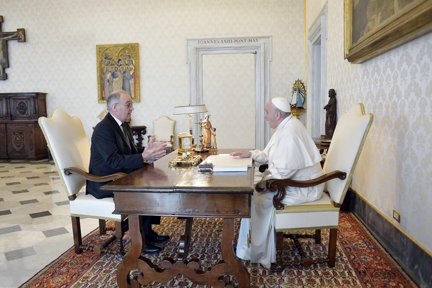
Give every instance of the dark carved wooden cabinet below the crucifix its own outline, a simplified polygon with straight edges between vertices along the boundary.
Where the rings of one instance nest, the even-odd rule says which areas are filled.
[[[0,160],[48,158],[38,118],[47,117],[46,93],[0,93]]]

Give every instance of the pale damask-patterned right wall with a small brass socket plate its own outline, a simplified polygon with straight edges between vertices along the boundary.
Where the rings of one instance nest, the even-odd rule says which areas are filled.
[[[306,1],[306,30],[325,3]],[[356,102],[375,115],[352,186],[431,252],[432,34],[350,64],[343,59],[343,0],[328,5],[327,89],[336,90],[339,115]]]

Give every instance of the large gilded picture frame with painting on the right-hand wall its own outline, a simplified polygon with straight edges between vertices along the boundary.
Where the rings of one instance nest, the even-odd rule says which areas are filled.
[[[432,31],[432,0],[344,0],[344,56],[363,63]]]

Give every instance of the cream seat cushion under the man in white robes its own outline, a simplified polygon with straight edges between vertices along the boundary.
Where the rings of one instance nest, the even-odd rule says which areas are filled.
[[[332,199],[323,193],[320,199],[298,205],[285,205],[275,211],[275,230],[309,230],[337,228],[339,208]]]

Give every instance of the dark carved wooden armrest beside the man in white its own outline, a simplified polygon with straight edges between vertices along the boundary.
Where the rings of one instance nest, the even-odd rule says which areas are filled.
[[[281,202],[285,197],[285,187],[311,187],[316,186],[319,184],[322,184],[324,182],[327,182],[329,180],[339,178],[340,180],[344,180],[346,178],[346,172],[342,171],[332,171],[330,173],[324,174],[323,176],[320,176],[315,179],[306,180],[306,181],[295,181],[291,179],[270,179],[266,182],[266,187],[270,191],[276,191],[278,192],[273,196],[273,206],[276,208],[276,210],[282,210],[284,209],[284,204]]]

